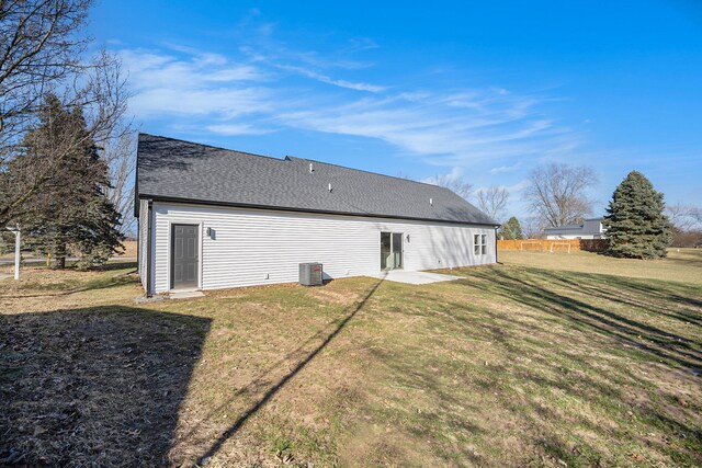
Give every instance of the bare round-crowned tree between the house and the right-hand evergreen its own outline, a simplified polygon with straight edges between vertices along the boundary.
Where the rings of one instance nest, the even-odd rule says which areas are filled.
[[[526,196],[532,209],[547,226],[580,221],[592,212],[587,190],[597,183],[595,171],[566,163],[540,165],[529,176]]]

